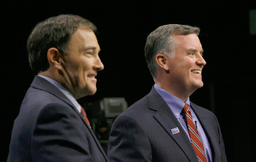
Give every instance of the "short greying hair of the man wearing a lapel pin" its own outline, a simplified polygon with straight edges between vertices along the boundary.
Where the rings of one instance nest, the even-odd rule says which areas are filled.
[[[155,59],[158,53],[164,54],[169,58],[174,57],[176,48],[174,34],[187,35],[192,33],[199,35],[200,28],[189,25],[167,24],[158,27],[147,36],[144,55],[147,67],[150,69],[153,77],[157,76],[157,63]]]

